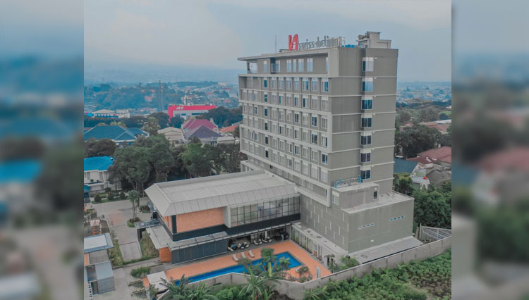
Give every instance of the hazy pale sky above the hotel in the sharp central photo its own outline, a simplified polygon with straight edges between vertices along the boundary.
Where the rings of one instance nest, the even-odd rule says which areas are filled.
[[[245,68],[241,56],[300,41],[382,32],[399,49],[399,80],[451,80],[451,1],[85,1],[85,66]]]

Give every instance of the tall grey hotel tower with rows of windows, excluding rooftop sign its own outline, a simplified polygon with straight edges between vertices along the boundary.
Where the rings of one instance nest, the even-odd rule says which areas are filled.
[[[291,238],[322,260],[418,243],[413,198],[392,190],[398,53],[367,32],[354,46],[238,58],[242,171],[296,184]]]

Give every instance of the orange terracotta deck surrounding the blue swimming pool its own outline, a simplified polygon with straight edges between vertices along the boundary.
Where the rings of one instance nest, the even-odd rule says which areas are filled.
[[[291,270],[288,270],[288,274],[293,275],[294,277],[298,277],[298,273],[296,273],[296,270],[300,268],[303,265],[307,265],[309,268],[309,272],[312,274],[312,278],[317,278],[316,276],[316,267],[320,267],[322,272],[321,276],[327,276],[330,275],[331,272],[327,270],[327,268],[320,263],[320,261],[317,261],[317,259],[312,258],[310,254],[308,254],[305,249],[301,248],[298,244],[292,242],[292,241],[285,241],[285,242],[279,242],[274,244],[264,244],[263,246],[250,249],[252,250],[252,253],[255,255],[254,258],[251,258],[248,254],[248,251],[245,252],[245,256],[249,258],[252,261],[255,261],[256,259],[261,258],[261,249],[262,248],[272,248],[274,249],[274,254],[281,254],[284,252],[289,252],[292,256],[296,258],[297,261],[301,263],[296,268],[292,268]],[[219,256],[215,258],[209,258],[202,261],[195,261],[191,262],[188,265],[182,265],[181,267],[172,268],[165,271],[166,277],[171,280],[178,280],[182,277],[182,275],[186,275],[186,277],[192,277],[195,275],[200,275],[203,273],[208,273],[214,270],[219,270],[222,268],[227,268],[232,265],[237,265],[236,261],[233,261],[233,253],[237,255],[238,258],[241,258],[241,252],[243,251],[235,251],[235,252],[229,252],[228,254],[224,256]],[[146,278],[145,278],[146,279]],[[143,280],[144,285],[148,287],[148,280]]]

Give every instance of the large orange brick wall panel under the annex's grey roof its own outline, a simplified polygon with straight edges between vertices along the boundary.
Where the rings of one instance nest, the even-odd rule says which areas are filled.
[[[176,232],[186,232],[224,224],[224,208],[212,208],[176,215]]]

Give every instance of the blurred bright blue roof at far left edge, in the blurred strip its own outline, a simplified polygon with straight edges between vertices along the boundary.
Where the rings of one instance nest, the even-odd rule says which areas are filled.
[[[40,161],[5,161],[0,163],[0,183],[32,182],[41,172]]]

